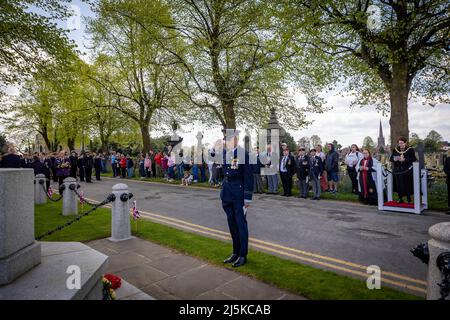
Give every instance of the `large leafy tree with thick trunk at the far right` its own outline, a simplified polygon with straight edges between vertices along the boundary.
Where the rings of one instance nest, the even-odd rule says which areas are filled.
[[[283,2],[284,3],[284,2]],[[359,105],[390,112],[391,146],[409,136],[408,100],[448,102],[450,2],[292,0],[286,25],[302,26],[305,45],[333,65],[330,77],[346,83]],[[294,26],[292,26],[294,24]]]

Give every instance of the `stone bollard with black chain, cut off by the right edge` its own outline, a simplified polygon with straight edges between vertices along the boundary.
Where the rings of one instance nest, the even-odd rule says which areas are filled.
[[[428,262],[427,299],[439,300],[441,298],[438,284],[444,279],[444,275],[437,266],[437,258],[443,252],[450,253],[450,222],[442,222],[428,229],[431,240],[428,241],[430,260]],[[450,295],[446,298],[450,300]]]

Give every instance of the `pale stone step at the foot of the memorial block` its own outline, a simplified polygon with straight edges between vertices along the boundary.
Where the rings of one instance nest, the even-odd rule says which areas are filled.
[[[0,286],[0,300],[101,300],[102,276],[108,256],[80,242],[40,242],[41,264],[12,283]],[[73,276],[69,266],[79,266],[81,288],[68,289]],[[70,269],[69,269],[70,271]]]

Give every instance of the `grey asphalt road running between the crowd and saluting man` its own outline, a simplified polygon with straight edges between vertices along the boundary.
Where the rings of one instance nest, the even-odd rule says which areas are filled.
[[[175,222],[174,226],[181,228],[186,226],[182,223],[185,221],[188,230],[207,236],[224,239],[228,234],[219,190],[113,178],[81,183],[81,188],[87,198],[101,201],[119,182],[129,186],[141,211],[156,214],[148,218],[168,217],[171,220],[159,221]],[[380,212],[353,203],[255,195],[247,220],[256,249],[357,277],[365,276],[366,266],[377,265],[386,272],[383,280],[387,285],[407,286],[407,290],[423,294],[426,266],[409,250],[428,240],[431,225],[449,221],[450,217],[436,212],[419,216]]]

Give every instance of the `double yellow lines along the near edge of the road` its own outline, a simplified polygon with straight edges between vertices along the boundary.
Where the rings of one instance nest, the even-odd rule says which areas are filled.
[[[87,199],[87,200],[91,200],[91,199]],[[96,200],[91,200],[91,201],[96,201]],[[96,202],[98,202],[98,201],[96,201]],[[108,205],[108,207],[110,207],[110,205]],[[156,214],[156,213],[147,212],[147,211],[140,211],[140,213],[143,216],[145,216],[145,217],[147,217],[149,219],[152,219],[152,220],[156,220],[156,221],[163,222],[163,223],[166,223],[166,224],[178,226],[180,228],[191,230],[191,231],[194,231],[194,232],[200,232],[200,233],[203,233],[203,234],[208,234],[210,236],[213,236],[213,237],[216,237],[216,238],[220,238],[220,239],[223,239],[223,240],[231,240],[231,237],[229,236],[229,233],[221,231],[221,230],[204,227],[204,226],[201,226],[201,225],[198,225],[198,224],[194,224],[194,223],[190,223],[190,222],[187,222],[187,221],[184,221],[184,220],[180,220],[180,219],[176,219],[176,218],[172,218],[172,217],[167,217],[167,216],[162,216],[162,215],[159,215],[159,214]],[[307,251],[303,251],[303,250],[297,250],[297,249],[294,249],[294,248],[285,247],[285,246],[282,246],[282,245],[278,245],[278,244],[275,244],[275,243],[271,243],[271,242],[267,242],[267,241],[263,241],[263,240],[259,240],[259,239],[255,239],[255,238],[250,238],[249,242],[250,242],[250,244],[253,247],[260,248],[260,249],[263,249],[263,250],[266,250],[266,251],[270,251],[270,252],[274,252],[274,253],[277,253],[277,254],[280,254],[280,255],[285,255],[285,256],[292,257],[292,258],[295,258],[295,259],[298,259],[298,260],[310,262],[312,264],[317,264],[317,265],[321,265],[321,266],[328,267],[328,268],[331,268],[331,269],[335,269],[335,270],[340,270],[340,271],[343,271],[343,272],[351,273],[351,274],[354,274],[354,275],[361,276],[363,278],[367,278],[369,276],[367,273],[364,273],[364,272],[352,270],[352,269],[349,269],[349,268],[337,266],[335,264],[331,264],[331,263],[327,263],[327,262],[323,262],[323,261],[319,261],[319,260],[315,260],[315,259],[310,259],[310,258],[307,258],[307,257],[299,256],[298,254],[291,254],[291,253],[286,252],[286,251],[291,251],[291,252],[294,252],[294,253],[299,253],[299,254],[302,254],[302,255],[306,255],[306,256],[314,257],[314,258],[319,258],[319,259],[322,259],[322,260],[332,261],[332,262],[335,262],[335,263],[347,265],[349,267],[354,267],[354,268],[358,268],[358,269],[367,270],[367,267],[365,267],[363,265],[347,262],[347,261],[341,260],[341,259],[336,259],[336,258],[331,258],[331,257],[327,257],[327,256],[322,256],[322,255],[318,255],[318,254],[307,252]],[[260,243],[260,244],[258,244],[258,243]],[[271,248],[271,247],[279,248],[281,250],[277,250],[277,249]],[[423,285],[426,286],[426,282],[422,281],[422,280],[410,278],[410,277],[399,275],[399,274],[395,274],[395,273],[392,273],[392,272],[383,272],[382,271],[382,274],[385,275],[385,276],[390,276],[390,277],[393,277],[393,278],[398,278],[398,279],[406,280],[406,281],[409,281],[409,282],[415,282],[415,283],[423,284]],[[396,285],[396,286],[399,286],[399,287],[402,287],[402,288],[407,288],[407,289],[410,289],[410,290],[413,290],[413,291],[426,293],[426,289],[424,289],[424,288],[419,288],[419,287],[416,287],[416,286],[413,286],[413,285],[409,285],[409,284],[405,284],[405,283],[402,283],[402,282],[386,279],[385,277],[382,278],[382,281],[384,281],[386,283],[390,283],[390,284]]]

